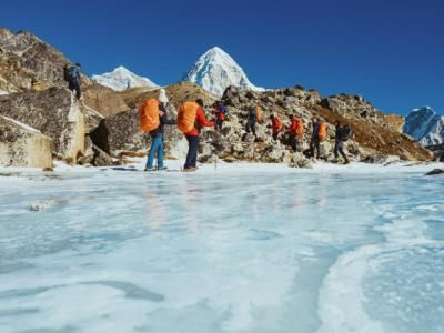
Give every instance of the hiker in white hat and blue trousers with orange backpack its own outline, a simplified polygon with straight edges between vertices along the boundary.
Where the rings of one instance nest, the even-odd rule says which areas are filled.
[[[148,99],[139,108],[139,118],[143,132],[150,133],[151,147],[144,171],[167,170],[163,165],[163,127],[175,124],[168,119],[167,105],[169,103],[164,89],[159,91],[159,100]],[[154,158],[158,158],[158,168],[154,169]]]

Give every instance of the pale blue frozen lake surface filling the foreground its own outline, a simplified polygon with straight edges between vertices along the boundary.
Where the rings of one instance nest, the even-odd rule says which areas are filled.
[[[443,332],[444,176],[0,178],[0,332]]]

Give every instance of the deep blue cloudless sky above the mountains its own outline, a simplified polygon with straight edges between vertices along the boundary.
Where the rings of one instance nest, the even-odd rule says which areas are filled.
[[[0,26],[30,30],[87,73],[123,64],[159,84],[219,46],[266,88],[363,94],[405,114],[444,111],[444,1],[8,1]]]

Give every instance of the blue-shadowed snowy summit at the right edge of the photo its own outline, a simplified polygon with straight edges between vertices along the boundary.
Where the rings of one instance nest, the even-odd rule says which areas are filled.
[[[405,119],[404,133],[423,145],[440,144],[444,141],[444,115],[431,107],[414,109]]]

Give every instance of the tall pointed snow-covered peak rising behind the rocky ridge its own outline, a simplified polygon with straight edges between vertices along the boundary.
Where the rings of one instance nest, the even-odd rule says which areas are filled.
[[[208,92],[219,97],[222,97],[229,85],[263,90],[251,83],[243,69],[219,47],[202,54],[183,77],[183,81],[195,82]]]

